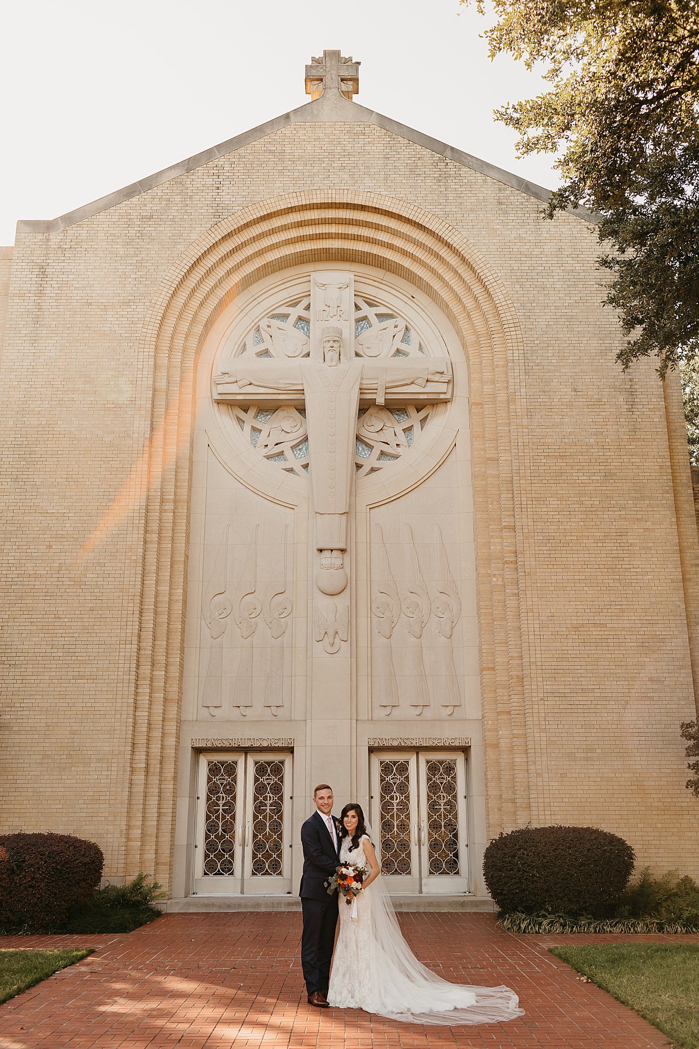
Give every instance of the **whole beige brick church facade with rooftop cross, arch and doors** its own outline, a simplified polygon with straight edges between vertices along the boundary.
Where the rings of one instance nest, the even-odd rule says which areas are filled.
[[[529,823],[696,875],[677,378],[590,216],[306,89],[2,250],[3,830],[221,905],[296,894],[329,783],[395,893]]]

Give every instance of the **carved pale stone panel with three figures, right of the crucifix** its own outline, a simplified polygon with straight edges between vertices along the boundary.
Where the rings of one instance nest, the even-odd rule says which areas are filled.
[[[460,523],[456,471],[452,452],[422,485],[370,513],[374,718],[479,713],[473,538],[469,516]]]

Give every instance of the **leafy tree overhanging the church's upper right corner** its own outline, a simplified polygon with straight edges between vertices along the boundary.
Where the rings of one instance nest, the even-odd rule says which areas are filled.
[[[485,0],[476,3],[485,14]],[[490,56],[543,65],[550,90],[496,116],[520,155],[559,152],[545,211],[584,206],[611,249],[617,360],[699,349],[699,8],[695,0],[492,0]]]

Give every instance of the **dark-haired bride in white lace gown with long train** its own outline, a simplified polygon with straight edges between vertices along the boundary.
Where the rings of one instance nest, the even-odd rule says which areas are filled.
[[[341,823],[341,863],[370,873],[350,906],[341,901],[328,1003],[416,1024],[502,1023],[523,1015],[508,987],[451,984],[418,962],[400,933],[362,807],[346,805]]]

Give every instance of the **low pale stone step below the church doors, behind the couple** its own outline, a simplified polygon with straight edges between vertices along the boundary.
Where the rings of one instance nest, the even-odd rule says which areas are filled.
[[[488,897],[462,894],[459,896],[422,896],[399,894],[392,896],[396,911],[476,911],[493,914],[495,903]],[[211,914],[230,911],[301,911],[298,896],[185,896],[162,900],[157,904],[168,914]]]

